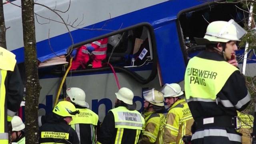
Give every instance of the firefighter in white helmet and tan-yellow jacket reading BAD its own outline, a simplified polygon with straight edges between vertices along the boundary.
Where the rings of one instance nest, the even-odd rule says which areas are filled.
[[[164,144],[184,144],[182,137],[192,135],[191,126],[194,122],[184,93],[178,84],[165,84],[161,92],[170,108],[166,116]]]

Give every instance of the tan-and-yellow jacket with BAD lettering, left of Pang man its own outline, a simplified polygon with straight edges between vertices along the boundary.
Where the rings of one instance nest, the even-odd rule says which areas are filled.
[[[164,128],[164,144],[184,144],[182,137],[192,135],[191,126],[194,119],[185,99],[176,101],[166,116]]]

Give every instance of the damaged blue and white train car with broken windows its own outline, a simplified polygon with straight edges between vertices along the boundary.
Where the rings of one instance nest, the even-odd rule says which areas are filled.
[[[133,90],[137,110],[142,110],[142,90],[160,89],[165,83],[184,79],[188,55],[202,50],[194,37],[203,37],[208,22],[215,20],[242,21],[239,4],[217,4],[204,0],[36,0],[53,11],[35,5],[36,47],[39,62],[65,55],[73,48],[95,40],[122,35],[120,44],[108,46],[107,60],[114,66],[121,87]],[[13,2],[21,5],[20,0]],[[236,5],[236,6],[235,6]],[[8,50],[16,54],[23,69],[24,44],[21,8],[4,4]],[[71,39],[71,36],[72,39]],[[187,38],[186,45],[184,39]],[[145,52],[144,56],[140,55]],[[144,50],[144,51],[143,51]],[[58,64],[58,63],[57,63]],[[65,67],[66,68],[66,67]],[[63,65],[39,68],[40,114],[52,110],[63,76]],[[24,70],[21,70],[24,72]],[[66,87],[79,87],[86,92],[90,108],[100,120],[113,106],[118,91],[108,66],[69,72]]]

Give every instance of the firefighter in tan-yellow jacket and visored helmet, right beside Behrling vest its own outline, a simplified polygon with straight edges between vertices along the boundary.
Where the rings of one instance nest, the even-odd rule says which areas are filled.
[[[162,144],[162,135],[166,118],[164,114],[164,96],[154,88],[143,92],[145,124],[139,144]]]

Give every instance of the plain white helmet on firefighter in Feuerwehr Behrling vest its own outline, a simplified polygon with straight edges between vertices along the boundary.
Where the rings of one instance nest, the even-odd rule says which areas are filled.
[[[126,104],[132,105],[133,97],[134,97],[134,94],[133,94],[132,90],[130,90],[129,88],[120,88],[120,90],[118,90],[118,92],[116,92],[116,98],[118,100],[123,101]]]

